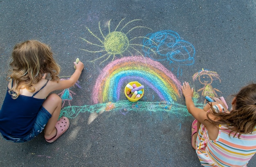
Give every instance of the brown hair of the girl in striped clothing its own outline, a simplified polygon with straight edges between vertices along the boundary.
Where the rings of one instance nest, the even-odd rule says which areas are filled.
[[[234,136],[238,134],[252,133],[256,128],[256,84],[243,87],[238,94],[234,95],[236,100],[230,113],[219,112],[211,106],[211,113],[216,119],[208,120],[215,124],[225,124]],[[229,135],[230,135],[229,134]]]

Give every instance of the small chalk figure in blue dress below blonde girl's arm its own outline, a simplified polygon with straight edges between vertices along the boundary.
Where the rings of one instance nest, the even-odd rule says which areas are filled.
[[[68,80],[68,79],[69,78],[61,78],[61,80]],[[79,85],[79,81],[76,81],[75,85],[81,89],[81,86]],[[76,93],[71,91],[70,88],[67,88],[67,89],[64,89],[58,95],[61,96],[61,99],[63,102],[61,108],[63,108],[63,106],[65,105],[66,102],[68,103],[69,106],[71,106],[71,101],[73,100],[73,95],[76,95]]]

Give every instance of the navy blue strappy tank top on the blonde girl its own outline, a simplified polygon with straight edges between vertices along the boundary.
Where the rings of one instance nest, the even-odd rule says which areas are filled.
[[[41,89],[46,86],[48,81]],[[45,101],[45,99],[34,98],[39,91],[31,97],[19,95],[18,98],[13,99],[9,94],[9,88],[7,88],[0,110],[0,132],[2,135],[22,138],[30,133],[38,111]]]

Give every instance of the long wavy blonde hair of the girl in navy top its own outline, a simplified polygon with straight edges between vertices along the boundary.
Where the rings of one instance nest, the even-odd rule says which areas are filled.
[[[44,73],[52,80],[59,81],[59,65],[53,58],[50,47],[37,40],[27,40],[15,45],[12,51],[10,70],[7,80],[15,82],[9,93],[12,98],[20,95],[20,89],[35,91]]]

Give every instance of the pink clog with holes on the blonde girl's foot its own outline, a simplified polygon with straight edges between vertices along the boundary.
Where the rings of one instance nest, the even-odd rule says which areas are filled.
[[[57,138],[59,138],[62,134],[64,134],[65,131],[67,131],[68,127],[70,126],[70,121],[68,120],[67,117],[63,116],[61,117],[57,122],[56,122],[56,129],[57,129],[57,134],[53,138],[47,140],[45,139],[48,143],[52,143]]]

